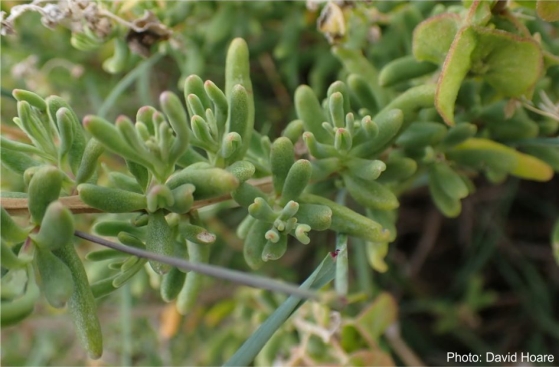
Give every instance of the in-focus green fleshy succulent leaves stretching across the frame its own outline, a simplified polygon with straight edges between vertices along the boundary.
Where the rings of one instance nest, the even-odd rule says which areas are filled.
[[[273,142],[254,130],[248,46],[241,39],[229,48],[224,90],[186,78],[186,110],[178,96],[164,92],[162,111],[142,107],[135,121],[121,116],[114,124],[86,116],[82,127],[62,99],[14,91],[14,122],[32,145],[2,137],[2,164],[23,176],[27,190],[2,197],[26,198],[31,218],[20,226],[2,210],[2,266],[9,269],[2,277],[2,324],[32,312],[38,284],[53,307],[68,304],[90,355],[100,356],[94,300],[129,281],[147,260],[92,252],[88,260],[111,261],[105,277],[89,284],[72,245],[72,213],[60,200],[76,192],[104,213],[139,212],[131,221],[101,219],[93,231],[159,255],[207,262],[215,236],[193,205],[230,194],[248,212],[238,235],[252,268],[279,259],[290,236],[308,244],[311,230],[330,229],[364,240],[372,267],[385,271],[398,197],[411,185],[424,180],[441,212],[455,217],[478,172],[495,182],[507,175],[549,180],[559,170],[559,151],[535,138],[555,136],[557,124],[503,98],[534,94],[557,57],[495,7],[474,1],[457,12],[436,14],[435,7],[427,19],[413,19],[413,55],[390,61],[380,73],[351,42],[336,41],[344,81],[333,83],[322,102],[300,86],[298,119]],[[296,153],[300,140],[306,151]],[[108,185],[97,173],[105,151],[127,168],[105,168]],[[271,192],[250,180],[265,176]],[[331,200],[340,189],[365,215]],[[176,299],[187,313],[202,276],[149,265],[162,276],[163,300]]]

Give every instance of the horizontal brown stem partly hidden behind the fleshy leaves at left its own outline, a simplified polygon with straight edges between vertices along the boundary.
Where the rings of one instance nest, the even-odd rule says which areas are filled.
[[[264,177],[255,180],[247,181],[254,187],[259,188],[264,192],[272,191],[272,178]],[[197,200],[192,205],[192,210],[200,209],[205,206],[220,203],[231,199],[231,195],[223,195],[216,198]],[[103,211],[95,209],[85,204],[78,195],[62,196],[58,199],[64,206],[66,206],[74,214],[88,214],[88,213],[102,213]],[[0,204],[11,215],[25,215],[29,212],[27,198],[0,198]]]

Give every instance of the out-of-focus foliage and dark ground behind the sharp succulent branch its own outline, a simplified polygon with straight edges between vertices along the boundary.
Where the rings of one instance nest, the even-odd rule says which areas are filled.
[[[142,105],[157,105],[163,90],[178,91],[190,74],[223,83],[223,60],[234,37],[243,37],[249,44],[256,126],[271,137],[278,136],[295,117],[291,96],[298,85],[309,84],[323,98],[328,85],[345,73],[317,30],[321,4],[100,3],[128,20],[138,19],[149,10],[172,30],[172,35],[168,42],[152,47],[148,64],[145,58],[128,53],[118,70],[109,73],[104,63],[112,57],[115,45],[126,42],[125,26],[115,25],[110,41],[84,51],[72,47],[72,31],[67,27],[49,30],[41,24],[39,14],[22,15],[16,20],[17,34],[1,39],[3,134],[17,135],[11,130],[11,119],[17,114],[11,97],[15,88],[42,96],[60,95],[79,116],[99,114],[104,109],[105,117],[114,119],[118,114],[133,116]],[[3,1],[0,6],[9,13],[18,4],[21,2]],[[419,17],[398,23],[388,19],[414,14],[426,17],[443,4],[356,3],[353,19],[347,22],[353,35],[347,45],[363,49],[380,68],[411,53],[411,39],[398,44],[390,42],[389,35],[411,34],[422,20]],[[374,14],[367,10],[373,5]],[[529,27],[541,27],[531,22]],[[399,28],[404,23],[409,29]],[[557,22],[550,27],[551,31],[542,34],[559,39]],[[557,46],[553,39],[550,43]],[[140,69],[141,65],[147,67]],[[129,75],[133,77],[127,79]],[[549,75],[557,90],[559,68]],[[2,170],[3,185],[13,188],[15,179]],[[403,195],[398,239],[387,257],[389,270],[373,273],[362,244],[351,242],[349,305],[335,311],[306,304],[293,322],[274,336],[255,363],[413,364],[417,360],[404,350],[406,343],[431,365],[447,364],[448,351],[519,351],[559,358],[559,269],[549,246],[549,233],[558,215],[559,180],[555,177],[547,183],[533,183],[509,178],[495,186],[478,178],[475,183],[477,192],[463,201],[462,213],[454,220],[437,211],[426,187]],[[220,213],[219,209],[201,211],[208,229],[218,235],[210,263],[247,269],[242,243],[234,233],[244,211]],[[95,215],[83,215],[78,226],[89,228],[94,221]],[[334,243],[332,233],[313,236],[315,245],[293,247],[281,260],[259,272],[302,282],[325,253],[334,250],[317,245]],[[79,247],[85,253],[95,246],[84,242]],[[104,264],[86,262],[86,266],[94,281]],[[204,285],[195,311],[181,317],[172,305],[161,302],[158,291],[152,288],[154,281],[156,277],[139,273],[122,290],[99,301],[106,340],[101,360],[85,359],[75,343],[71,321],[43,301],[22,324],[2,330],[2,364],[217,365],[227,360],[285,299],[211,280]],[[376,321],[366,322],[367,317]],[[387,329],[394,321],[399,328]]]

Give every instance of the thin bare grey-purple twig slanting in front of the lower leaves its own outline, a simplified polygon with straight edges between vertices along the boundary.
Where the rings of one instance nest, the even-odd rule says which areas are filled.
[[[318,299],[318,295],[316,292],[309,291],[306,289],[301,289],[296,285],[279,282],[274,279],[269,279],[254,274],[248,275],[241,271],[230,270],[219,266],[213,266],[204,263],[196,263],[188,260],[159,255],[136,247],[125,246],[120,243],[108,241],[104,238],[94,236],[82,231],[75,231],[74,235],[76,237],[83,238],[84,240],[97,243],[101,246],[109,247],[114,250],[122,251],[137,257],[169,264],[179,269],[194,271],[211,277],[225,279],[234,283],[244,284],[249,287],[268,289],[271,291],[282,292],[292,296],[306,298],[306,299],[314,299],[314,300]]]

